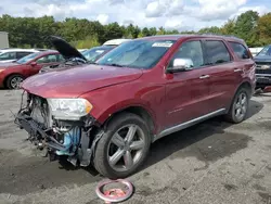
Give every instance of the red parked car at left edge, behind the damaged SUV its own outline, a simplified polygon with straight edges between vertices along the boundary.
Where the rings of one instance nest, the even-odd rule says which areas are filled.
[[[54,65],[63,62],[57,51],[34,52],[23,59],[0,64],[0,87],[17,89],[27,77],[39,73],[44,65]]]

